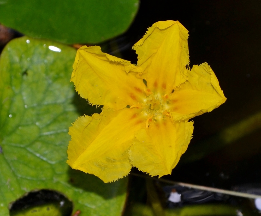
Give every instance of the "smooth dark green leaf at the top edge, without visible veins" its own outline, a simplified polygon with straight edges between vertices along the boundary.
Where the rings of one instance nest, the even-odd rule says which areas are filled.
[[[34,38],[98,43],[127,30],[139,0],[3,0],[0,22]]]

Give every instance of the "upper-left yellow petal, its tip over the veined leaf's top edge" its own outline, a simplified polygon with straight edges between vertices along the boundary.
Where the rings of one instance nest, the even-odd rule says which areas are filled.
[[[99,46],[78,49],[71,81],[92,104],[122,109],[141,101],[144,83],[131,62],[103,53]],[[145,96],[144,96],[145,97]]]

